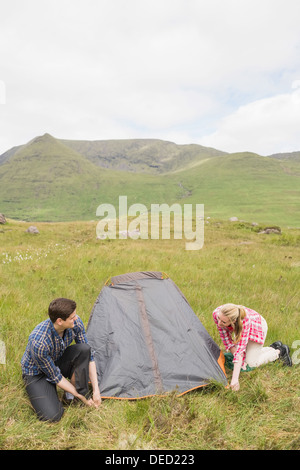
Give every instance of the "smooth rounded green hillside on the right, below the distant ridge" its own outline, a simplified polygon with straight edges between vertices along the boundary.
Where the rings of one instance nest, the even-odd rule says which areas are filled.
[[[207,215],[300,226],[300,164],[242,153],[211,159],[181,173],[185,202],[205,203]]]

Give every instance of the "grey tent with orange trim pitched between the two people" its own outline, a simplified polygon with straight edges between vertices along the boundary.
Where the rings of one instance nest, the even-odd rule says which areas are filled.
[[[227,385],[223,353],[161,272],[110,278],[92,309],[87,338],[103,398],[182,395],[211,380]]]

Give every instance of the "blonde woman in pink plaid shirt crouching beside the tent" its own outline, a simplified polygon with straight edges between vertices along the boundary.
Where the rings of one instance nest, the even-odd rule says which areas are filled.
[[[229,303],[217,307],[213,312],[213,319],[226,350],[233,354],[232,390],[239,390],[240,371],[247,364],[250,367],[259,367],[281,358],[286,365],[292,365],[289,348],[281,341],[276,341],[270,347],[263,347],[268,326],[266,320],[255,310]]]

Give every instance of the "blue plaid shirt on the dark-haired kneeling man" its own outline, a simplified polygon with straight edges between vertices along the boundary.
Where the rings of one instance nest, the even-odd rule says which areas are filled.
[[[44,373],[49,382],[57,384],[63,376],[55,362],[73,340],[75,343],[88,342],[83,322],[78,316],[74,322],[74,328],[66,329],[63,338],[55,330],[50,318],[43,321],[29,335],[21,360],[22,373],[25,375]],[[93,354],[91,354],[91,360],[94,360]]]

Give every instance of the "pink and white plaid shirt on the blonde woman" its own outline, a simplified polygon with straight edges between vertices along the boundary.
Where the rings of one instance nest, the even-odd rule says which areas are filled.
[[[265,338],[261,327],[261,315],[251,308],[243,307],[246,312],[246,317],[243,320],[242,335],[240,341],[238,343],[234,343],[231,336],[233,333],[232,326],[223,328],[218,326],[218,313],[220,312],[221,307],[222,305],[217,307],[213,312],[213,319],[218,327],[221,340],[224,343],[226,351],[229,351],[233,346],[236,346],[237,349],[233,356],[233,362],[238,362],[239,357],[242,355],[244,363],[248,341],[264,344]]]

